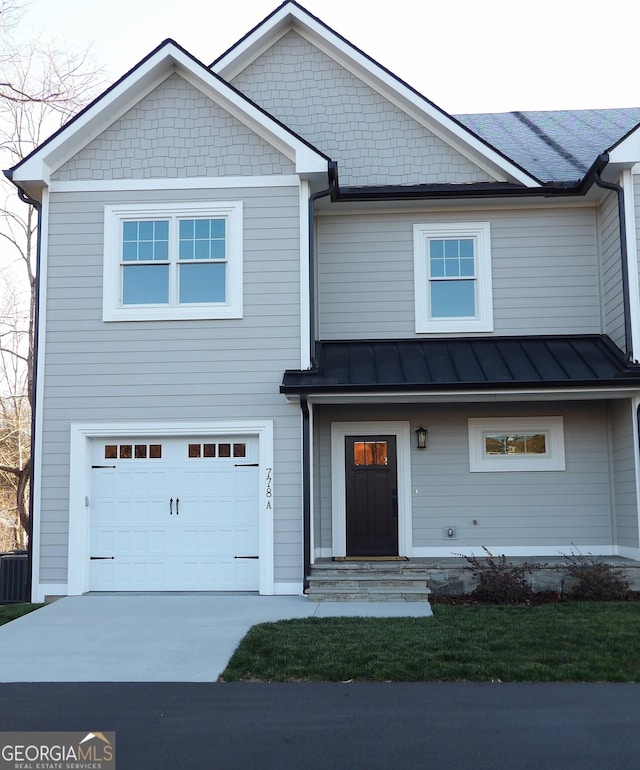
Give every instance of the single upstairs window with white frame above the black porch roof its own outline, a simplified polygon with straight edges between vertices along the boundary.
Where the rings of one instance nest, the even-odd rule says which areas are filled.
[[[413,226],[416,332],[493,331],[488,222]]]

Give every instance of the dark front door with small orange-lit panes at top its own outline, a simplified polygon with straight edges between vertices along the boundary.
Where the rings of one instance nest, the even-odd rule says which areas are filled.
[[[397,556],[395,436],[346,436],[347,556]]]

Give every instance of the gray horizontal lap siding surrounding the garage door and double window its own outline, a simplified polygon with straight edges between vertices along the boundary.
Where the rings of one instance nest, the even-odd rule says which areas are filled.
[[[65,582],[71,422],[273,419],[275,579],[301,579],[298,188],[54,193],[42,404],[41,578]],[[244,201],[244,317],[102,321],[105,203]]]

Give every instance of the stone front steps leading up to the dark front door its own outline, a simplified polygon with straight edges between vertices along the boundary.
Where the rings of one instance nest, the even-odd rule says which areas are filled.
[[[315,602],[428,602],[428,569],[409,561],[322,561],[311,568]]]

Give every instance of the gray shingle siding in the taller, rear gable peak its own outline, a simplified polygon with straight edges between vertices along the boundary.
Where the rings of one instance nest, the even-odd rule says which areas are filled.
[[[338,161],[343,185],[493,181],[296,32],[232,84]]]

